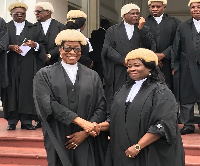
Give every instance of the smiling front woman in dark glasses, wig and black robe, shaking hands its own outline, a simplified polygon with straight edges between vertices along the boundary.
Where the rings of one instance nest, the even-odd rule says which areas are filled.
[[[106,133],[92,132],[106,119],[101,79],[77,63],[86,39],[68,29],[58,34],[56,44],[62,61],[42,68],[34,78],[48,165],[104,166]]]

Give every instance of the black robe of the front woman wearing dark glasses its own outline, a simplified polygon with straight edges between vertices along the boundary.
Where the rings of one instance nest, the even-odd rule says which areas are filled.
[[[65,147],[66,136],[82,130],[79,126],[72,124],[75,117],[79,116],[97,123],[105,121],[105,99],[101,80],[95,71],[78,64],[74,87],[75,90],[78,90],[78,98],[76,97],[74,100],[77,105],[72,107],[70,102],[74,98],[69,96],[71,89],[68,87],[70,83],[67,82],[69,78],[66,75],[61,63],[58,62],[42,68],[34,78],[34,99],[35,104],[38,105],[37,113],[41,119],[48,121],[50,130],[56,136],[56,142],[60,144],[66,158],[70,160],[70,163],[61,164],[52,140],[49,138],[49,130],[42,126],[49,166],[68,164],[73,166],[104,166],[107,148],[105,133],[101,133],[95,138],[86,138],[75,150],[68,150]],[[70,107],[77,109],[71,110]]]

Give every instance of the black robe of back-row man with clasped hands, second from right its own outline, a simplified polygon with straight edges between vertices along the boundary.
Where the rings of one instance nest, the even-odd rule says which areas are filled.
[[[152,15],[146,18],[146,26],[150,27],[153,38],[156,41],[155,53],[163,53],[165,58],[161,60],[163,66],[160,68],[165,76],[165,81],[169,88],[173,90],[173,77],[171,69],[171,48],[175,38],[176,29],[180,24],[180,20],[163,14],[160,24],[156,22]],[[175,87],[176,88],[176,87]]]

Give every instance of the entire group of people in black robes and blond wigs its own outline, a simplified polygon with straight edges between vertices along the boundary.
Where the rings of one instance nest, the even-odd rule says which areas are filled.
[[[194,104],[200,105],[200,0],[189,1],[192,17],[183,23],[165,13],[167,0],[149,0],[148,6],[145,20],[137,5],[124,5],[123,20],[104,28],[97,53],[95,33],[94,50],[81,33],[84,12],[69,11],[64,25],[52,18],[51,3],[38,2],[32,24],[27,5],[12,3],[12,20],[6,25],[0,18],[7,130],[15,130],[19,120],[21,129],[42,127],[52,166],[183,166],[180,133],[194,133]],[[93,69],[103,81],[90,69],[90,57],[102,61],[103,73],[98,61]],[[110,141],[102,132],[107,130]]]

